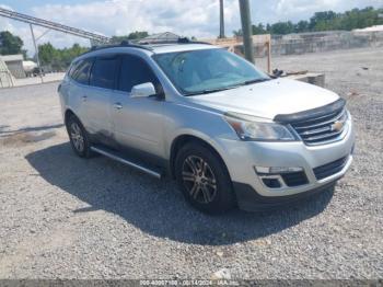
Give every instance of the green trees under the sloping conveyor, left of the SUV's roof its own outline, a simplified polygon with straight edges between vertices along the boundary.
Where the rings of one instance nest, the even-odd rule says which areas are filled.
[[[71,61],[89,48],[74,44],[70,48],[57,49],[50,43],[38,45],[38,56],[42,66],[49,66],[53,70],[66,70]]]

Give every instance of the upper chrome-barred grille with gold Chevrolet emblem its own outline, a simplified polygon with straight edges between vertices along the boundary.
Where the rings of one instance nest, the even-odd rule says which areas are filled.
[[[339,139],[345,130],[346,120],[347,111],[343,108],[324,116],[292,123],[291,126],[306,145],[314,146]]]

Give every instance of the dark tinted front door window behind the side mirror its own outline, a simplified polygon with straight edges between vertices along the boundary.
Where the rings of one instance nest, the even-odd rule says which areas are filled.
[[[118,90],[130,92],[134,85],[146,82],[153,83],[156,91],[161,89],[160,81],[143,59],[124,55],[121,57]]]

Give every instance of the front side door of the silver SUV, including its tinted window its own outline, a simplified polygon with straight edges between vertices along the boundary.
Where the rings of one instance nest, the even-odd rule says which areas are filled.
[[[112,103],[115,138],[123,147],[161,157],[164,101],[156,96],[130,96],[134,85],[151,82],[160,92],[161,83],[141,57],[125,54],[120,59],[118,85]]]

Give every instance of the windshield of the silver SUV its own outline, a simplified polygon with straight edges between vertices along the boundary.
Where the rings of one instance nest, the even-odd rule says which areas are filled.
[[[225,49],[166,53],[153,57],[184,95],[216,92],[270,79],[251,62]]]

